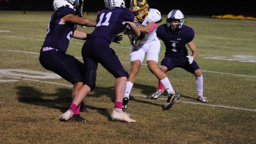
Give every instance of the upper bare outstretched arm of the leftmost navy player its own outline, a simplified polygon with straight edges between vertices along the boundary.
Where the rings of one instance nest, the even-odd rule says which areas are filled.
[[[86,27],[96,27],[96,20],[91,20],[89,18],[78,17],[73,14],[65,15],[61,18],[62,22],[73,22],[78,25],[86,26]]]

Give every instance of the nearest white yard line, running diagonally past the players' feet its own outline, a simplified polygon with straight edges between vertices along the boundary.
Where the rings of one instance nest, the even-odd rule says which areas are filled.
[[[43,82],[43,83],[49,83],[49,84],[55,84],[55,85],[61,85],[61,86],[66,86],[69,88],[72,88],[73,85],[68,85],[68,84],[62,84],[62,83],[57,83],[57,82],[50,82],[50,81],[39,81],[39,80],[33,80],[33,79],[27,79],[27,78],[20,78],[20,77],[14,77],[14,76],[7,76],[7,75],[0,75],[1,77],[8,77],[12,79],[19,79],[19,80],[25,80],[25,81],[37,81],[37,82]],[[15,81],[15,80],[12,80]],[[147,98],[146,95],[134,95],[134,97],[143,97]],[[164,98],[158,98],[159,100],[166,100]],[[157,100],[157,99],[156,99]],[[212,104],[206,104],[206,103],[200,103],[200,102],[189,102],[189,101],[183,101],[183,100],[177,100],[177,102],[183,102],[183,103],[188,103],[188,104],[194,104],[194,105],[204,105],[204,106],[209,106],[209,107],[217,107],[217,108],[229,108],[229,109],[238,109],[238,110],[247,110],[247,111],[256,111],[256,109],[250,109],[250,108],[237,108],[237,107],[229,107],[229,106],[221,106],[221,105],[212,105]]]

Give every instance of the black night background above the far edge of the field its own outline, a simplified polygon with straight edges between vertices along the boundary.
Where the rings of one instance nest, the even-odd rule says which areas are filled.
[[[6,2],[8,1],[8,2]],[[127,0],[129,3],[130,0]],[[0,0],[0,10],[42,10],[51,11],[53,0]],[[210,3],[211,1],[209,1]],[[214,1],[213,1],[214,2]],[[184,15],[244,15],[256,17],[256,4],[240,1],[240,3],[216,2],[211,4],[178,3],[174,0],[148,0],[150,8],[168,14],[172,9],[180,9]],[[128,4],[127,4],[128,5]],[[104,0],[84,0],[83,11],[96,12],[104,9]]]

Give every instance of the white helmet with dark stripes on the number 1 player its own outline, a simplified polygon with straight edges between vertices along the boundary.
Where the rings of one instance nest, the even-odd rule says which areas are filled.
[[[172,25],[173,21],[178,21],[179,24],[178,25]],[[184,23],[184,15],[183,13],[178,10],[178,9],[174,9],[171,12],[169,12],[169,14],[167,15],[166,18],[166,26],[174,32],[179,31]]]

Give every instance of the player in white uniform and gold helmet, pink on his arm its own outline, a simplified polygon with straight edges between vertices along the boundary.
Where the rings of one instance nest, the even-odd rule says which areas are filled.
[[[161,13],[157,9],[149,9],[147,0],[131,0],[130,10],[135,15],[135,23],[138,23],[140,32],[145,36],[138,37],[136,43],[132,44],[130,48],[131,69],[126,83],[122,108],[123,110],[128,108],[129,95],[145,54],[147,54],[146,60],[150,72],[155,74],[158,80],[164,84],[168,92],[165,108],[169,108],[180,96],[174,91],[165,73],[157,65],[160,41],[156,37],[155,31],[156,24],[162,21]],[[155,97],[152,97],[152,99],[155,99]]]

